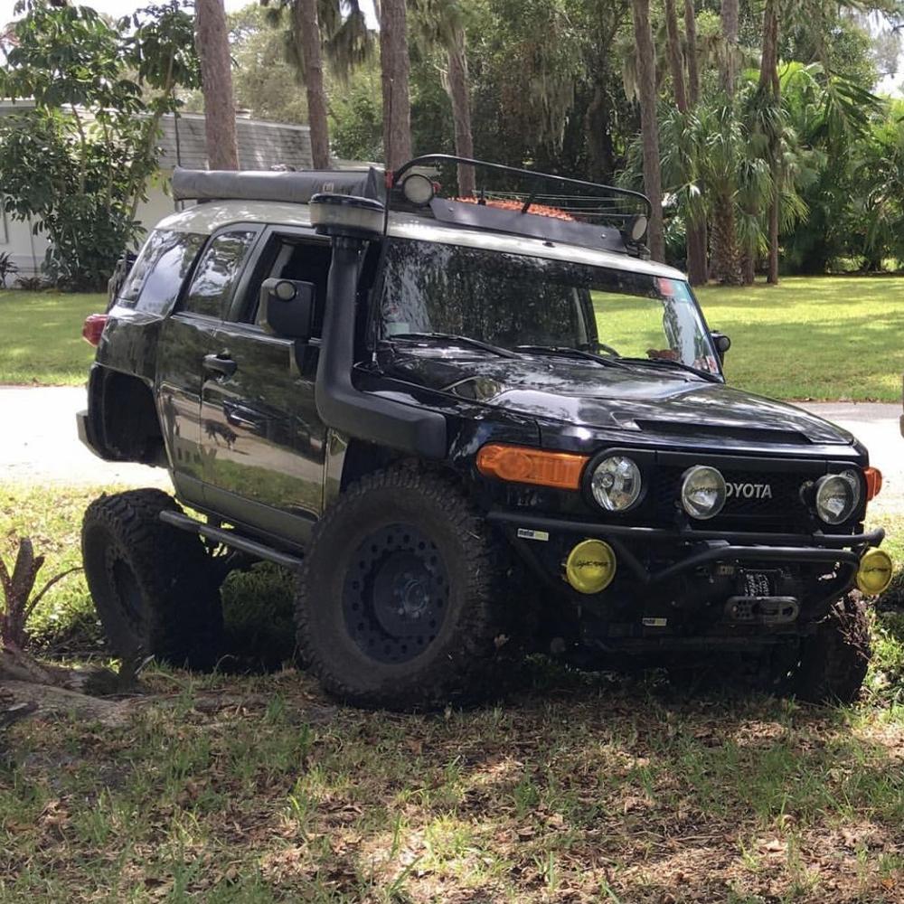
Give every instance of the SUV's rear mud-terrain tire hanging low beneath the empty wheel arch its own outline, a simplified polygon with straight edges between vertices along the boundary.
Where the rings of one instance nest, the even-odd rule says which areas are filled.
[[[216,570],[201,538],[160,520],[181,512],[161,490],[129,490],[91,503],[81,526],[85,577],[110,648],[209,669],[221,652]]]

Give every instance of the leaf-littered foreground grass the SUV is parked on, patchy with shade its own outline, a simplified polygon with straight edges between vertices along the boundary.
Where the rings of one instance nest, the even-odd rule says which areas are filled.
[[[0,485],[0,554],[27,525],[45,576],[76,562],[96,494]],[[900,514],[874,523],[904,534]],[[50,640],[92,624],[80,577],[35,621]],[[0,899],[891,904],[904,616],[875,636],[845,709],[538,661],[472,711],[373,714],[294,669],[152,669],[126,727],[0,737]]]

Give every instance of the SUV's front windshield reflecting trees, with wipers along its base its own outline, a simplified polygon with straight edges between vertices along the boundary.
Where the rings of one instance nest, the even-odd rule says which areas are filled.
[[[516,351],[579,349],[720,372],[683,280],[395,239],[387,250],[378,335],[405,334],[456,335]]]

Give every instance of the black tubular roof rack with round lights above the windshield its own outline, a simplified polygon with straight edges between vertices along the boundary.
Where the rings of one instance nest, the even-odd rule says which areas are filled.
[[[474,196],[444,192],[457,186],[463,167],[473,170]],[[405,188],[413,175],[418,176],[417,192]],[[444,225],[648,254],[642,241],[652,205],[629,189],[448,154],[410,160],[392,174],[391,186],[388,209],[430,216]]]

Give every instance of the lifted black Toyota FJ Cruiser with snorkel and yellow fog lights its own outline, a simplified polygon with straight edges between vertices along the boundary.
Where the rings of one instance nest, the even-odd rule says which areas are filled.
[[[476,196],[444,192],[465,166]],[[851,591],[891,573],[862,524],[880,475],[843,430],[725,385],[729,340],[649,261],[642,195],[443,155],[177,171],[174,195],[197,203],[86,324],[81,438],[168,468],[193,510],[89,506],[116,652],[212,664],[221,563],[272,560],[298,571],[302,659],[357,703],[479,692],[525,648],[738,654],[856,696]]]

